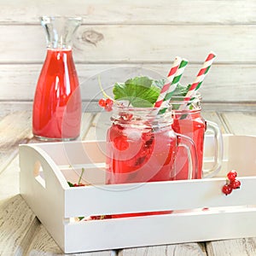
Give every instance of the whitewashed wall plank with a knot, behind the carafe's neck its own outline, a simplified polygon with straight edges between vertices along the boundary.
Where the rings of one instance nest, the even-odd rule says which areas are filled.
[[[42,62],[44,30],[38,26],[0,26],[1,63]],[[97,35],[101,34],[102,37]],[[17,39],[18,38],[18,39]],[[17,44],[17,40],[19,44]],[[176,55],[202,62],[213,50],[217,62],[255,62],[256,26],[81,26],[73,40],[76,61],[165,62]]]

